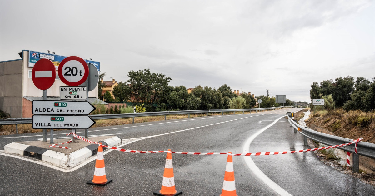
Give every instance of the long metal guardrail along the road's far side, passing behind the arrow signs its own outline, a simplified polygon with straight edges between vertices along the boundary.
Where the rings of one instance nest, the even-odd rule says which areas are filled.
[[[211,110],[189,110],[189,111],[166,111],[166,112],[142,112],[142,113],[118,113],[118,114],[98,114],[89,115],[93,120],[100,119],[114,119],[114,118],[134,118],[140,116],[166,116],[175,114],[190,114],[190,113],[213,113],[213,112],[246,112],[246,111],[263,111],[263,110],[275,110],[279,108],[296,108],[293,106],[281,106],[274,108],[251,108],[251,109],[211,109]],[[5,118],[0,119],[0,125],[18,125],[18,124],[31,124],[33,123],[32,118]]]

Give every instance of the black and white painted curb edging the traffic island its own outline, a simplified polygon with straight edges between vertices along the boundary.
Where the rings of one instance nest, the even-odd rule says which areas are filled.
[[[99,143],[100,142],[106,146],[116,146],[121,143],[121,139],[114,136],[99,141]],[[96,155],[98,153],[98,144],[91,144],[89,146],[76,150],[70,154],[56,152],[53,150],[48,150],[41,147],[30,146],[17,142],[7,144],[4,148],[6,153],[30,156],[61,167],[74,167],[75,165],[80,164],[87,158],[90,158],[91,156]]]

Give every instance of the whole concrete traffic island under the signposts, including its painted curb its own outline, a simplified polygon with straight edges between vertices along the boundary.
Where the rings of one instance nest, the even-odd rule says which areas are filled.
[[[54,143],[65,143],[70,139],[55,139]],[[121,143],[121,139],[116,136],[91,137],[91,141],[101,142],[106,146],[116,146]],[[74,167],[86,159],[98,153],[98,144],[90,144],[86,141],[76,139],[65,146],[71,149],[49,147],[49,142],[43,141],[20,141],[5,145],[5,153],[12,153],[22,156],[33,157],[49,164],[60,167]]]

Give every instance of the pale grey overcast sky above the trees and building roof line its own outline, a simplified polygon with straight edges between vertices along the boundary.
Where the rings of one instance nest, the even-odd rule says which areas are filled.
[[[375,76],[375,1],[0,0],[0,61],[22,50],[310,102],[314,81]]]

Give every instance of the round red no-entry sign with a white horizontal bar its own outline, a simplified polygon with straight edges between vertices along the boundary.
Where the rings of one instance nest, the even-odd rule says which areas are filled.
[[[56,68],[51,60],[38,60],[31,72],[34,85],[40,90],[47,90],[56,80]]]

